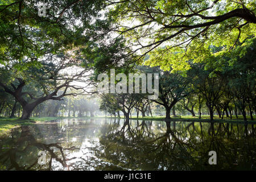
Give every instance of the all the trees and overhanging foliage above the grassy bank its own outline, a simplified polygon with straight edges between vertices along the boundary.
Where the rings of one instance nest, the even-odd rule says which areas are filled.
[[[145,117],[163,107],[166,119],[185,110],[201,118],[206,109],[211,120],[253,119],[255,3],[44,1],[47,16],[38,16],[39,2],[1,1],[2,116],[93,116],[87,100],[66,97],[96,93],[97,76],[116,68],[159,73],[159,97],[98,94],[111,115]]]

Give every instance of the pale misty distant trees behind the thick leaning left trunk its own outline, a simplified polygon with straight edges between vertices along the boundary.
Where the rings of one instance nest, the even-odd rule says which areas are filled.
[[[0,100],[0,117],[21,117],[22,106],[14,98],[6,94]],[[65,97],[61,101],[48,100],[37,105],[29,117],[94,117],[98,107],[98,101],[95,98]]]

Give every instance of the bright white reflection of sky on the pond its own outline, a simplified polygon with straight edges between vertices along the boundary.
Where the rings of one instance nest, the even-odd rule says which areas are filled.
[[[73,151],[65,150],[64,153],[67,159],[67,167],[65,168],[60,162],[53,159],[53,170],[94,170],[94,166],[97,166],[98,163],[101,165],[104,163],[109,164],[108,162],[98,159],[92,151],[92,148],[100,146],[99,142],[101,135],[104,135],[106,127],[113,122],[113,119],[89,119],[86,121],[83,119],[63,119],[51,122],[49,125],[43,124],[37,125],[36,127],[38,128],[40,138],[43,138],[44,143],[61,143],[63,148],[68,148],[64,146],[69,144],[69,147],[72,145],[80,148]],[[117,122],[117,120],[115,122]],[[123,119],[121,119],[119,126],[117,127],[118,130],[122,128],[123,122]],[[151,127],[154,127],[155,125],[159,128],[164,126],[162,122],[156,122]],[[131,126],[137,126],[137,121],[131,121]],[[54,151],[58,152],[59,149],[54,148]],[[100,152],[103,154],[104,150],[101,150]]]

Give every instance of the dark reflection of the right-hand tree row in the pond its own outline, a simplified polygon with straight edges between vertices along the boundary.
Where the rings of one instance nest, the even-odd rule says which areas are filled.
[[[109,162],[98,169],[255,169],[254,139],[243,135],[246,130],[253,135],[253,125],[166,122],[166,133],[158,133],[152,123],[130,121],[117,128],[94,148]],[[211,150],[217,152],[216,166],[208,164]]]

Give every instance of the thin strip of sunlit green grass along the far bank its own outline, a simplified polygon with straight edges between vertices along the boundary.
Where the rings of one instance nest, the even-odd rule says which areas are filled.
[[[36,123],[40,123],[40,122],[45,122],[45,121],[52,121],[55,119],[67,119],[67,118],[114,118],[114,117],[105,117],[105,116],[101,116],[98,115],[96,117],[31,117],[30,119],[24,119],[24,120],[20,120],[19,118],[1,118],[0,117],[0,137],[3,135],[8,134],[11,129],[13,129],[14,127],[19,127],[22,125],[33,125],[35,122]],[[123,118],[123,117],[121,117]],[[255,115],[254,115],[255,118]],[[165,121],[165,117],[164,116],[154,116],[154,117],[139,117],[137,118],[136,116],[132,116],[130,119],[139,119],[139,120],[155,120],[155,121]],[[171,117],[170,121],[198,121],[199,117],[192,117],[191,115],[181,115],[179,117]],[[210,121],[210,117],[209,115],[202,115],[201,122],[209,122]],[[250,116],[247,115],[247,121],[248,122],[255,122],[256,121],[251,121]],[[243,121],[243,117],[242,115],[238,115],[238,119],[236,117],[233,116],[232,119],[230,118],[226,118],[224,117],[224,119],[220,119],[218,118],[218,116],[214,116],[214,122],[242,122]]]

